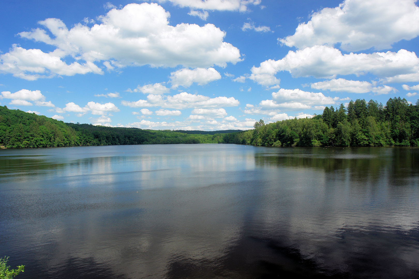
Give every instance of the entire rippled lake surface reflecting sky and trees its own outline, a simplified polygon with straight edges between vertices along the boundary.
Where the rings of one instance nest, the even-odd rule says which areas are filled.
[[[20,279],[418,278],[419,148],[0,150]]]

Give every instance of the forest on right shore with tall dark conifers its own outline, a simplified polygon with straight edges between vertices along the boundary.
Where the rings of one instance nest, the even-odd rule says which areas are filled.
[[[326,107],[313,118],[256,122],[253,130],[230,133],[225,143],[258,146],[419,146],[419,100],[400,97],[378,104],[356,100]]]

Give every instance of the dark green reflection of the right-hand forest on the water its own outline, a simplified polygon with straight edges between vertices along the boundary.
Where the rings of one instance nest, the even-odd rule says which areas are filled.
[[[309,167],[355,181],[373,182],[388,176],[391,184],[400,185],[405,180],[414,181],[412,179],[417,179],[419,174],[419,148],[292,148],[295,152],[281,149],[284,148],[279,148],[278,152],[256,153],[256,166]]]

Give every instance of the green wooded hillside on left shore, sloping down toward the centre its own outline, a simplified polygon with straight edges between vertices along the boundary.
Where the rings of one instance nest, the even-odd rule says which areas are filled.
[[[7,148],[221,143],[222,136],[64,123],[44,115],[0,106],[0,144]]]

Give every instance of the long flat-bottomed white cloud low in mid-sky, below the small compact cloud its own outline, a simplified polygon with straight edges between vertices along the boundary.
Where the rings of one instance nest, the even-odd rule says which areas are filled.
[[[138,100],[136,102],[122,101],[122,105],[131,108],[141,107],[163,107],[163,108],[215,108],[215,107],[234,107],[240,102],[234,97],[215,97],[210,98],[203,95],[194,95],[182,92],[173,96],[153,95],[147,96],[147,100]]]

